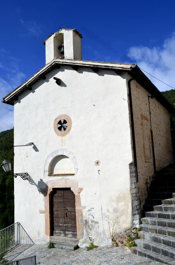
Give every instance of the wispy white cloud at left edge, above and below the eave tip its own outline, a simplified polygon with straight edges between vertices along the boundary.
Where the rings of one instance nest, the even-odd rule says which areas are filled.
[[[4,96],[23,82],[25,74],[19,70],[16,59],[15,61],[10,61],[8,65],[4,66],[1,62],[0,65],[5,71],[3,77],[0,77],[0,99],[2,100]],[[14,107],[0,102],[0,132],[9,130],[13,126]]]

